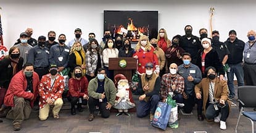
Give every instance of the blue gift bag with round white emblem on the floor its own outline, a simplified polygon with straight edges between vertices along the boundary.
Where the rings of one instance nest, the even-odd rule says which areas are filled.
[[[165,130],[170,117],[170,112],[171,105],[168,105],[165,102],[159,102],[157,104],[157,108],[155,109],[152,126]]]

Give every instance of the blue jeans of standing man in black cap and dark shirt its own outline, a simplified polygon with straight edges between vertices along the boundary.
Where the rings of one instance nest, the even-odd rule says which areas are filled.
[[[242,70],[242,64],[228,64],[230,67],[230,71],[228,70],[228,89],[229,89],[229,97],[236,96],[234,91],[234,74],[236,74],[237,84],[238,86],[244,85],[244,70]]]

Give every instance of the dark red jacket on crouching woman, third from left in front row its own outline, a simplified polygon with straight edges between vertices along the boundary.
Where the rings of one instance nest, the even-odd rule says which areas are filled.
[[[81,77],[81,80],[70,78],[68,82],[68,95],[72,97],[82,97],[85,94],[88,95],[88,80],[87,78]]]

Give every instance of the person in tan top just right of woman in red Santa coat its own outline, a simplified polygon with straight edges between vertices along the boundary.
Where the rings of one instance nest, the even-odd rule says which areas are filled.
[[[157,55],[157,59],[159,62],[159,69],[155,70],[156,74],[162,77],[164,70],[165,70],[165,52],[157,45],[157,39],[153,38],[151,39],[151,45],[155,48],[155,53]]]

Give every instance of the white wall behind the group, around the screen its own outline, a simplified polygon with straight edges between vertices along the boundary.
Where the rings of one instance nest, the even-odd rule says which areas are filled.
[[[103,32],[103,10],[159,10],[159,28],[165,28],[168,37],[184,34],[184,26],[192,25],[198,36],[200,28],[209,29],[210,7],[215,7],[213,29],[220,31],[220,39],[228,38],[235,29],[237,37],[247,41],[247,31],[255,29],[254,0],[1,0],[0,7],[4,45],[12,46],[20,32],[33,28],[35,39],[54,30],[73,39],[75,28],[81,28],[83,37],[95,32],[100,40]]]

